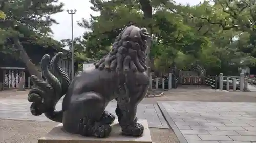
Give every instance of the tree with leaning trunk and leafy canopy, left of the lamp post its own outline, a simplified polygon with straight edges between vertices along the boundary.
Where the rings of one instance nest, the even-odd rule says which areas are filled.
[[[35,65],[30,61],[22,42],[42,46],[59,46],[58,41],[50,37],[50,26],[57,22],[51,14],[63,11],[63,3],[56,0],[3,0],[0,2],[0,45],[1,52],[11,53],[26,64],[30,74],[41,78]],[[20,38],[25,38],[21,41]]]

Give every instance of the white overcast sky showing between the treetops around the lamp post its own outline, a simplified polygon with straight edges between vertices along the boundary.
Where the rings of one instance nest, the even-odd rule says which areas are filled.
[[[202,0],[176,0],[176,3],[196,5]],[[52,17],[57,20],[59,25],[53,25],[52,30],[54,32],[53,38],[56,40],[71,39],[71,15],[67,13],[67,9],[76,9],[74,14],[74,37],[83,35],[84,29],[76,24],[76,21],[80,21],[82,18],[89,19],[90,14],[97,15],[90,9],[92,6],[89,0],[59,0],[59,2],[65,3],[65,11],[55,14]]]

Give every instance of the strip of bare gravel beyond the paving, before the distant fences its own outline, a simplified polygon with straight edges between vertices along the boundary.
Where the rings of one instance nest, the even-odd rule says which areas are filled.
[[[190,87],[190,88],[189,88]],[[27,99],[26,91],[1,91],[1,98]],[[182,88],[164,91],[161,97],[144,98],[141,103],[157,103],[157,101],[216,101],[216,102],[256,102],[256,92],[218,91],[205,87],[182,86]]]

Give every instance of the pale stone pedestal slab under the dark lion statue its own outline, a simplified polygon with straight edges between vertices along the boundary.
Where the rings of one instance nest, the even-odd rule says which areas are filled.
[[[115,120],[112,131],[107,138],[83,137],[81,135],[70,134],[63,130],[62,124],[54,127],[45,137],[38,139],[38,143],[152,143],[150,129],[147,120],[138,120],[144,126],[144,133],[141,137],[127,137],[121,134],[121,127]]]

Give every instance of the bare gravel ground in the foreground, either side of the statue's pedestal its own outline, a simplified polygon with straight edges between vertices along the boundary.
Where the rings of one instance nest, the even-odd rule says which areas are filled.
[[[0,119],[1,143],[36,143],[58,123]],[[150,128],[152,141],[156,143],[178,143],[176,135],[169,129]]]

